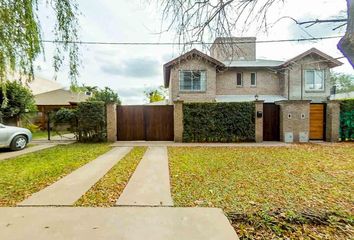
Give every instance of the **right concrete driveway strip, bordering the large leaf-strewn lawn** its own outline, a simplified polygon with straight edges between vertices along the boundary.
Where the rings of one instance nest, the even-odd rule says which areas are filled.
[[[166,147],[148,148],[116,205],[173,205]]]

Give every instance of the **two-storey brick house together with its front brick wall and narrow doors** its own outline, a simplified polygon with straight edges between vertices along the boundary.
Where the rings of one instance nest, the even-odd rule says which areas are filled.
[[[256,38],[232,37],[217,38],[209,55],[193,49],[169,61],[163,76],[175,119],[182,119],[179,102],[255,101],[257,142],[337,141],[330,69],[340,65],[316,48],[286,61],[257,59]],[[181,141],[183,123],[175,120],[174,128]]]

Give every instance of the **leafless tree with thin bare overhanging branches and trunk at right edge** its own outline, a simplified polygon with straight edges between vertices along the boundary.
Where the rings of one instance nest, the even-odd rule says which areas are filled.
[[[346,1],[347,30],[338,49],[354,66],[354,1]],[[231,37],[240,27],[242,31],[251,25],[266,30],[270,25],[267,15],[286,0],[157,0],[157,3],[162,11],[162,32],[176,30],[179,42],[193,44],[204,42],[207,37]],[[312,22],[321,23],[318,20]],[[237,51],[228,42],[223,45],[225,49]]]

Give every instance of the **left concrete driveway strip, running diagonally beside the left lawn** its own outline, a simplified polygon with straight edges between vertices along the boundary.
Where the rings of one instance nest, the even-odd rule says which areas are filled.
[[[117,147],[110,150],[56,183],[33,194],[19,206],[73,205],[131,149],[131,147]]]

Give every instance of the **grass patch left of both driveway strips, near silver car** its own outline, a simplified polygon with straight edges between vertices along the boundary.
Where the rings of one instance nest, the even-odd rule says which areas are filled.
[[[0,162],[0,206],[15,206],[111,148],[109,144],[70,144]]]

